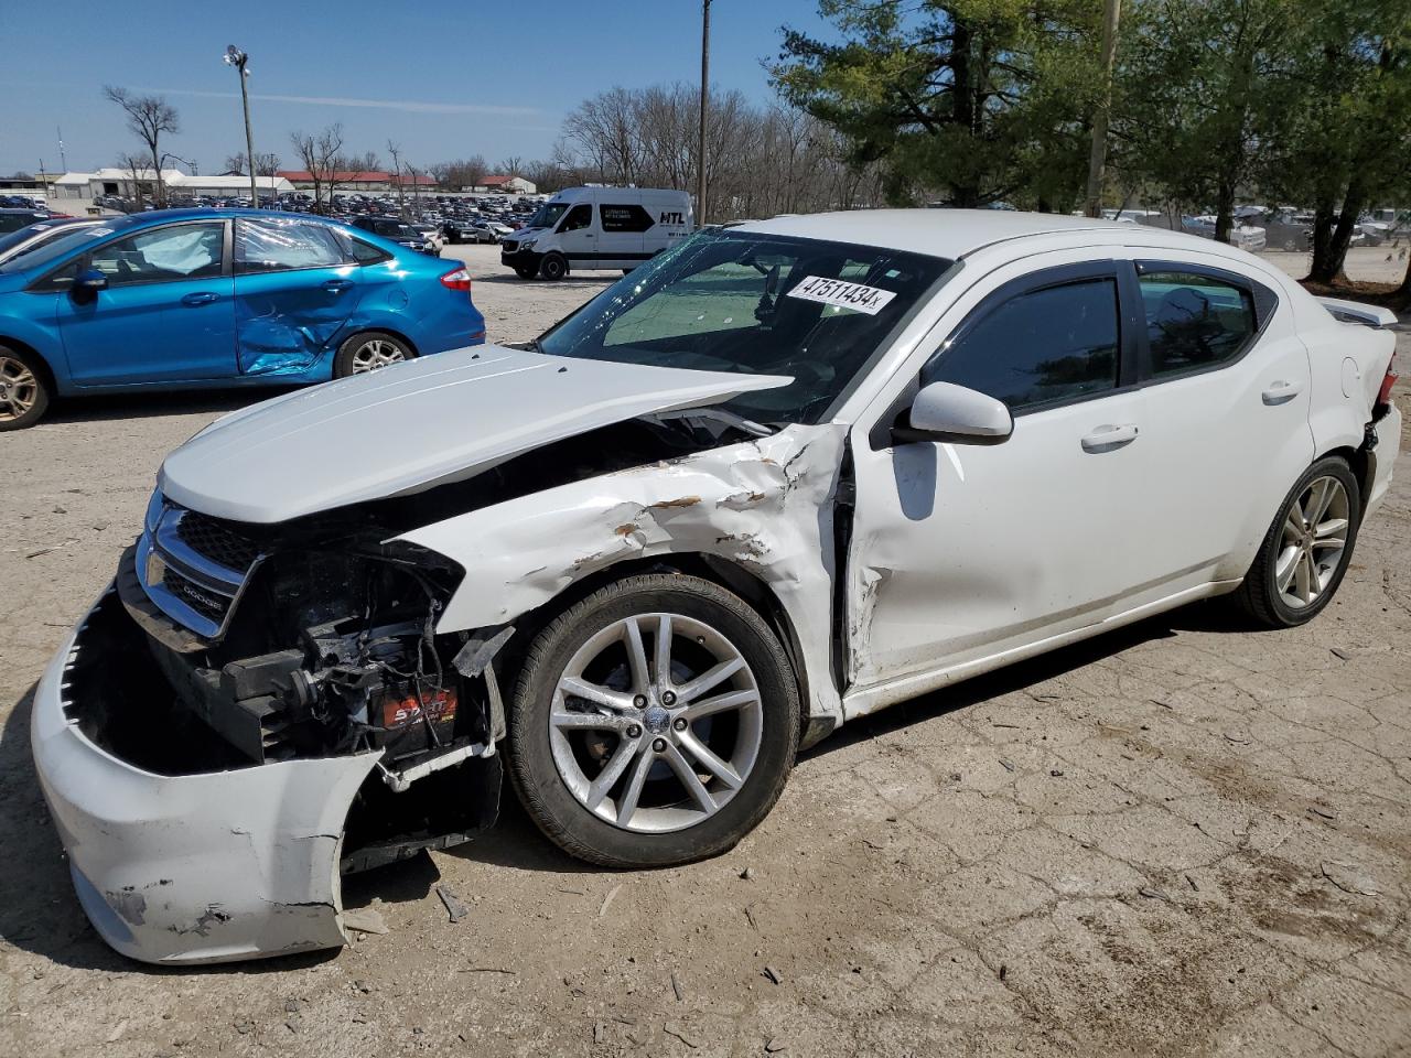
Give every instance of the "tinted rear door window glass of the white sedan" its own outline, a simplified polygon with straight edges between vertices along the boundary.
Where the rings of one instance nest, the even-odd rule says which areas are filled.
[[[1202,272],[1143,272],[1151,374],[1175,375],[1237,357],[1259,329],[1253,295]]]

